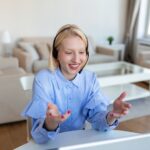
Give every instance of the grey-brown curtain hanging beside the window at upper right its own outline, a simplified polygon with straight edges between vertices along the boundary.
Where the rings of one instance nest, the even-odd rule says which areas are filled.
[[[127,14],[127,27],[125,33],[125,61],[134,63],[135,62],[135,40],[136,30],[138,24],[138,16],[140,10],[141,0],[129,0],[128,1],[128,14]]]

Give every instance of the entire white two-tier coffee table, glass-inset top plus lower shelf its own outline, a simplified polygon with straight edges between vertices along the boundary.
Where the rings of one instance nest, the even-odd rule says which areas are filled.
[[[127,100],[150,96],[150,90],[145,90],[132,84],[141,81],[149,82],[150,69],[124,61],[91,64],[87,65],[86,69],[97,74],[98,81],[103,91],[113,98],[122,91],[127,91]]]

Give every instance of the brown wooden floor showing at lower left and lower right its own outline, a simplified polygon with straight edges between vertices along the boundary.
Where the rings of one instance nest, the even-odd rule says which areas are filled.
[[[142,87],[147,88],[145,84]],[[138,133],[150,132],[150,116],[132,119],[119,124],[117,130]],[[26,122],[0,125],[0,150],[12,150],[26,143]]]

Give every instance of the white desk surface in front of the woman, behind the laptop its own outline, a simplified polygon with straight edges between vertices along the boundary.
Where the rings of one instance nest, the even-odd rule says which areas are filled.
[[[42,150],[53,149],[64,146],[71,146],[83,143],[92,143],[98,141],[107,141],[110,139],[117,139],[123,137],[129,137],[137,135],[137,133],[112,130],[109,132],[98,132],[95,130],[78,130],[71,132],[60,133],[53,141],[49,141],[46,144],[36,144],[34,141],[30,141],[27,144],[16,148],[16,150]]]

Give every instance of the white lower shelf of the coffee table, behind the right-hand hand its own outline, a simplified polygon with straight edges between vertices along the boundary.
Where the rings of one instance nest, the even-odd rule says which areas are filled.
[[[122,84],[109,87],[103,87],[102,91],[111,100],[111,103],[123,92],[127,92],[125,101],[136,100],[150,96],[150,91],[134,84]]]

